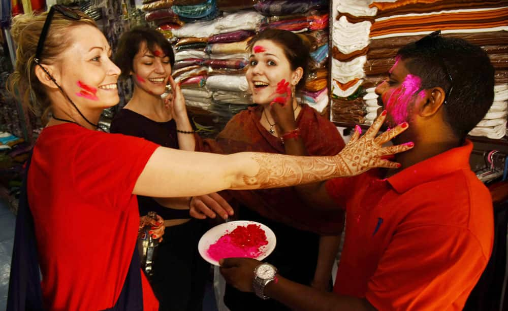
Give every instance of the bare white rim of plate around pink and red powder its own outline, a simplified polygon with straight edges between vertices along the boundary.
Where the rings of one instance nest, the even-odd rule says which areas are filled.
[[[211,228],[210,230],[206,231],[206,233],[203,234],[198,243],[199,254],[201,255],[201,257],[203,257],[204,260],[208,261],[213,265],[218,266],[219,265],[218,261],[210,258],[210,256],[208,255],[208,249],[210,248],[210,245],[214,244],[224,234],[230,233],[231,231],[235,230],[236,227],[252,224],[260,225],[261,229],[265,231],[266,240],[268,241],[268,244],[260,248],[261,255],[255,258],[258,260],[265,259],[275,249],[275,244],[277,241],[275,239],[275,234],[273,233],[272,229],[268,228],[267,226],[260,224],[259,222],[248,220],[235,220],[225,222],[224,224],[217,225]]]

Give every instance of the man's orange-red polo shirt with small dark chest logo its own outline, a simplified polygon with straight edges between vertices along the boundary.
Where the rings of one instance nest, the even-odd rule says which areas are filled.
[[[388,179],[327,182],[346,209],[334,292],[379,310],[462,310],[489,260],[492,200],[469,167],[472,143]]]

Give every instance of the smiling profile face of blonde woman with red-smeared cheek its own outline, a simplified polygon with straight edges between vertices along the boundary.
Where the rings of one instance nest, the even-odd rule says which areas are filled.
[[[102,32],[90,25],[69,31],[72,44],[60,55],[57,82],[79,107],[104,109],[120,100],[116,82],[120,69],[110,60],[111,48]]]

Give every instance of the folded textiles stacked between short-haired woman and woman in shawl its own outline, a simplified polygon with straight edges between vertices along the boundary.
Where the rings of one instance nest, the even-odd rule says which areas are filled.
[[[244,77],[248,64],[246,49],[263,16],[245,10],[218,17],[223,9],[252,9],[257,1],[206,0],[185,5],[181,0],[180,5],[176,3],[177,0],[165,10],[185,24],[182,22],[181,26],[169,30],[158,28],[174,43],[173,78],[181,83],[186,105],[198,127],[205,133],[217,133],[233,116],[232,112],[245,109],[244,105],[251,103]],[[154,18],[154,13],[150,13],[147,19]]]

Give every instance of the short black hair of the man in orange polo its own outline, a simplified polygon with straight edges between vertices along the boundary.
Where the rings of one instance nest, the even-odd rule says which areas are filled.
[[[427,36],[397,55],[422,79],[422,88],[441,87],[447,96],[444,121],[459,138],[483,119],[494,99],[494,67],[482,48],[459,38]]]

